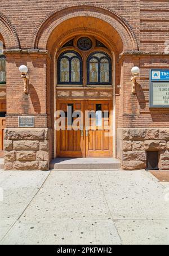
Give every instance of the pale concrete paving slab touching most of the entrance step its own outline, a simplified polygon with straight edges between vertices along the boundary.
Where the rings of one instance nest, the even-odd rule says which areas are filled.
[[[97,172],[52,171],[22,220],[108,219],[111,217]]]

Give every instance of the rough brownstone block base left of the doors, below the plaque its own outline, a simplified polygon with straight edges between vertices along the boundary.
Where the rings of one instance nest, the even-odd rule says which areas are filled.
[[[5,170],[48,170],[51,129],[6,129]]]

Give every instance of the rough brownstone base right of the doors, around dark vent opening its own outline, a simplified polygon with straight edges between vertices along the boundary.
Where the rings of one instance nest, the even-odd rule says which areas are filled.
[[[118,129],[117,156],[122,169],[146,168],[146,151],[158,151],[159,169],[169,170],[169,129]]]

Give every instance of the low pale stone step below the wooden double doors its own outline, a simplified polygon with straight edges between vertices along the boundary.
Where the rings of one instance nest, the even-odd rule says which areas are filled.
[[[121,163],[115,158],[56,158],[51,161],[52,170],[118,170]]]

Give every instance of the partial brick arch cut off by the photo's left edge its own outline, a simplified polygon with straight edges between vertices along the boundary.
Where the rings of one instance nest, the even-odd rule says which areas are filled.
[[[6,49],[19,49],[20,42],[17,37],[16,29],[10,20],[0,12],[0,33],[5,41]]]

